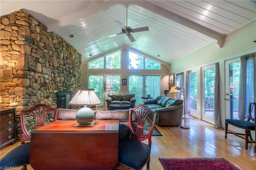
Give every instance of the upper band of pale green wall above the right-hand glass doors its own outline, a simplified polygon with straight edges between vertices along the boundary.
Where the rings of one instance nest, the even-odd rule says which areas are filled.
[[[256,21],[229,34],[222,48],[211,43],[170,64],[170,73],[179,73],[193,67],[225,58],[238,57],[256,51]]]

